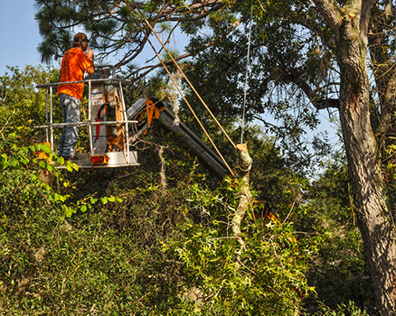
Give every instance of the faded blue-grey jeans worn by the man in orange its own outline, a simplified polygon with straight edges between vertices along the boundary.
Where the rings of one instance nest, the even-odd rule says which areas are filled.
[[[61,93],[59,97],[61,99],[64,123],[80,122],[81,101],[78,98],[73,98],[64,93]],[[61,141],[58,144],[58,156],[74,155],[78,137],[79,126],[64,126],[61,131]]]

